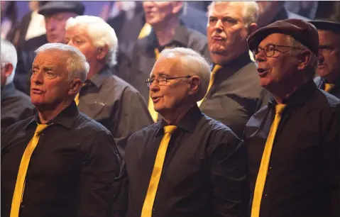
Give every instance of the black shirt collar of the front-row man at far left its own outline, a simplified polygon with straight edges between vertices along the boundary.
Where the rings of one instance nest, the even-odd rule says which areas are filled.
[[[70,106],[67,106],[66,109],[62,110],[51,121],[48,121],[47,124],[58,124],[64,126],[67,129],[71,129],[73,124],[77,120],[78,115],[79,111],[77,105],[75,104],[75,101],[72,101]],[[31,121],[26,126],[26,130],[33,127],[35,128],[38,125],[38,123],[40,123],[40,119],[37,112],[35,113],[35,116],[31,118]]]

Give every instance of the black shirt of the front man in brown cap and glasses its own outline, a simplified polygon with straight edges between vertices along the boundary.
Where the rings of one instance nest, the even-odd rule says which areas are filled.
[[[275,104],[270,99],[246,125],[244,143],[252,192]],[[287,106],[275,134],[260,216],[339,217],[339,99],[317,89],[311,80],[283,104]]]

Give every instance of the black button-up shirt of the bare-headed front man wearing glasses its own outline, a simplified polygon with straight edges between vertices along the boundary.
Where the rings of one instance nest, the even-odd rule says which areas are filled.
[[[126,148],[128,217],[141,216],[165,121],[131,135]],[[241,140],[194,106],[172,134],[153,217],[246,216],[249,192]]]

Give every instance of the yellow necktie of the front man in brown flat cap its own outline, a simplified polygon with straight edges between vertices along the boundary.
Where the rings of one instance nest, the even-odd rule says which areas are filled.
[[[251,217],[260,216],[261,200],[263,196],[263,189],[265,187],[265,179],[267,178],[268,166],[270,162],[270,155],[273,148],[276,130],[278,130],[281,121],[281,114],[285,109],[285,104],[278,104],[275,106],[275,118],[270,127],[270,132],[263,150],[260,169],[258,169],[258,177],[256,179],[255,191],[253,196],[253,205],[251,207]]]

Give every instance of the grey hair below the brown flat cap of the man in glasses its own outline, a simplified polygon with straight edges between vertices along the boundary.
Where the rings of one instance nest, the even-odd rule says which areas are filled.
[[[291,35],[286,35],[286,42],[292,47],[301,48],[303,50],[310,50],[309,48],[307,48],[307,46],[303,45],[299,40],[296,40]],[[297,50],[297,49],[290,49],[289,50],[289,53],[291,55],[297,55],[300,52],[301,52],[301,50]],[[317,70],[318,60],[319,60],[317,55],[314,54],[314,52],[311,51],[311,53],[312,53],[312,55],[310,57],[309,64],[307,65],[307,70],[311,72],[311,74],[309,74],[308,78],[314,77],[314,74]]]

